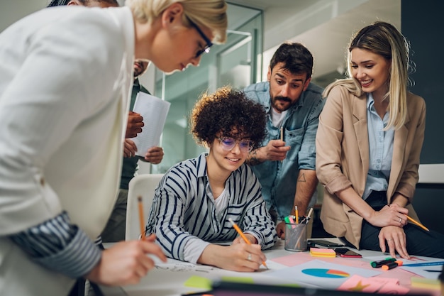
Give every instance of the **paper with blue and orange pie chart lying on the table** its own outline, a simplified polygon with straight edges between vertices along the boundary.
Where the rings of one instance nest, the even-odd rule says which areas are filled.
[[[305,283],[307,285],[336,289],[352,275],[370,278],[380,273],[380,271],[374,269],[355,268],[312,260],[292,267],[282,268],[272,273],[267,273],[267,275],[287,280],[289,283]]]

